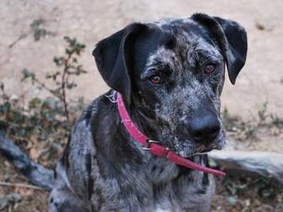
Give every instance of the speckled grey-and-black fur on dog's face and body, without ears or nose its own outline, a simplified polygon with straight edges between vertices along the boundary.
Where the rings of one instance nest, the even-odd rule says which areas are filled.
[[[196,33],[207,31],[194,18],[146,25],[170,35],[171,43],[158,45],[144,68],[132,74],[135,88],[132,104],[127,105],[129,113],[147,136],[185,158],[208,165],[207,155],[195,153],[224,146],[223,124],[207,145],[193,141],[187,125],[207,108],[221,120],[224,52],[213,37],[207,40]],[[190,30],[192,27],[197,30]],[[209,62],[217,64],[217,69],[206,76],[202,67]],[[168,83],[162,88],[146,84],[156,72],[166,75]],[[108,78],[103,78],[111,86]],[[94,100],[74,126],[57,164],[50,211],[209,211],[214,187],[212,175],[179,167],[142,150],[121,123],[115,92],[110,90]]]

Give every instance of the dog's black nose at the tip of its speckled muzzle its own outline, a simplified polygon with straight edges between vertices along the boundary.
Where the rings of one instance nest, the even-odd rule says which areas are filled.
[[[192,119],[190,131],[197,142],[209,143],[219,134],[220,122],[215,114],[209,113]]]

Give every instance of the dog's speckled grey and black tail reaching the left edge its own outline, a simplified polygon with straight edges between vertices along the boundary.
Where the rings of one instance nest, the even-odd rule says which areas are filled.
[[[27,177],[32,184],[48,191],[52,189],[54,172],[31,160],[13,141],[5,136],[1,128],[0,154],[13,164],[22,175]]]

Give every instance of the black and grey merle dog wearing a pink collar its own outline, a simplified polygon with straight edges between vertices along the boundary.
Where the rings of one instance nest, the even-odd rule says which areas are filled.
[[[241,25],[202,13],[133,23],[98,42],[93,56],[112,89],[74,126],[50,211],[209,211],[213,177],[144,151],[121,123],[115,91],[146,136],[207,165],[205,153],[226,141],[225,66],[234,84],[246,52]]]

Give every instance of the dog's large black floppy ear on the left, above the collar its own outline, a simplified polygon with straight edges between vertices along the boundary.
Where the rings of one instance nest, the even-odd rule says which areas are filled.
[[[145,30],[146,25],[133,23],[123,30],[106,37],[96,45],[93,56],[96,59],[98,71],[104,81],[122,94],[127,103],[131,96],[131,73],[128,69],[131,51],[129,45],[133,38],[133,33]]]

